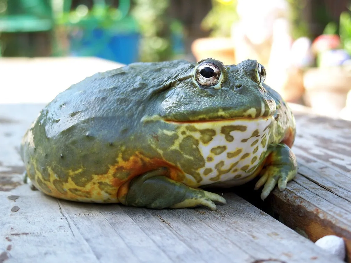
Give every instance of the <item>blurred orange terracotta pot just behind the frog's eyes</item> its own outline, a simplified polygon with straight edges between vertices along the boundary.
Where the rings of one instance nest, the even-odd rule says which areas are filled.
[[[224,65],[232,65],[235,62],[230,38],[199,38],[193,41],[191,51],[197,61],[212,58],[223,62]]]

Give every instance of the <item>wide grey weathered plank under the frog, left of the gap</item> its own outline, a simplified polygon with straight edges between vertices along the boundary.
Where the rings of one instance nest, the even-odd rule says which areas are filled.
[[[41,107],[0,105],[7,120],[0,123],[0,262],[340,262],[230,192],[212,212],[74,203],[31,191],[17,150]]]

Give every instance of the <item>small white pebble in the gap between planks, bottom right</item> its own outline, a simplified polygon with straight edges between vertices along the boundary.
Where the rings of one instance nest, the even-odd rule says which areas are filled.
[[[317,240],[314,244],[330,252],[331,254],[336,255],[341,260],[345,259],[345,242],[341,237],[324,236],[322,238],[319,238],[319,240]]]

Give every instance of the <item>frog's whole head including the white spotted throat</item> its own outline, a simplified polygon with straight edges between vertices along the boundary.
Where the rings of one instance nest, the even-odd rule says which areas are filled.
[[[205,59],[166,62],[160,70],[165,84],[149,93],[151,120],[161,117],[152,122],[153,148],[177,160],[194,187],[255,176],[277,110],[263,86],[264,67],[256,60],[224,66]]]

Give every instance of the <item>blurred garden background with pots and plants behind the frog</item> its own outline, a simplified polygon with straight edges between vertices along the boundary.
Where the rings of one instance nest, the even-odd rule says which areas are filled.
[[[351,120],[350,8],[348,0],[0,0],[0,103],[62,91],[118,63],[249,58],[285,100]],[[54,88],[66,77],[68,86]]]

